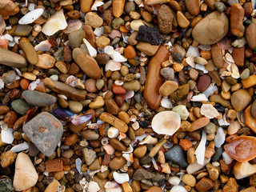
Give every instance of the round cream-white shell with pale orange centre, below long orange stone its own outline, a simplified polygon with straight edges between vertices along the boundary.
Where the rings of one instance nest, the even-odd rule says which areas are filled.
[[[152,129],[157,134],[173,135],[181,125],[180,116],[174,111],[162,111],[152,120]]]

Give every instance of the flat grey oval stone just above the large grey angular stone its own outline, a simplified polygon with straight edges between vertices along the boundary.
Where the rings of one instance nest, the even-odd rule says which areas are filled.
[[[54,96],[36,90],[25,90],[22,93],[22,97],[33,106],[50,106],[57,101]]]

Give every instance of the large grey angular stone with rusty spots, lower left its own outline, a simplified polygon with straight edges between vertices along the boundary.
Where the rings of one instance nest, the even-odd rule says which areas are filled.
[[[23,131],[42,154],[50,156],[62,137],[63,126],[52,114],[42,112],[27,122]]]

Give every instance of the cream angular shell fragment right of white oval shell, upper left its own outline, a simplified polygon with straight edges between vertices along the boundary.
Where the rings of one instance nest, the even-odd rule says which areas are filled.
[[[65,30],[67,26],[66,18],[63,10],[58,10],[52,15],[47,22],[42,26],[42,33],[51,36],[58,32],[58,30]]]

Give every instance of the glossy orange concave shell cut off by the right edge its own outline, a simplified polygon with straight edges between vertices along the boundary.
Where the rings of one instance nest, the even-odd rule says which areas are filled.
[[[226,153],[238,162],[247,162],[256,157],[256,138],[240,136],[224,146]]]

